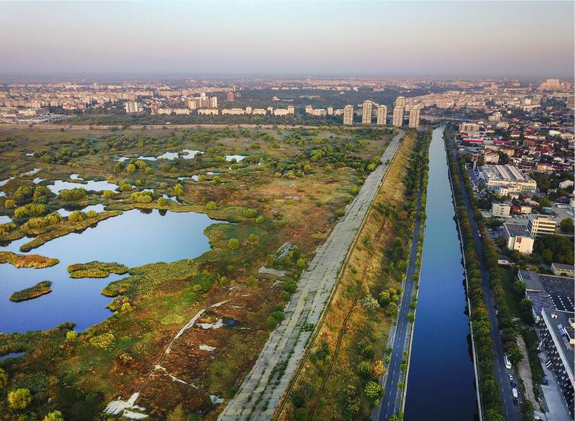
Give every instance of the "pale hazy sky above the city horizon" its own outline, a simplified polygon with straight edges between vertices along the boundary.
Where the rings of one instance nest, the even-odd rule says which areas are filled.
[[[574,4],[0,2],[0,74],[572,78]]]

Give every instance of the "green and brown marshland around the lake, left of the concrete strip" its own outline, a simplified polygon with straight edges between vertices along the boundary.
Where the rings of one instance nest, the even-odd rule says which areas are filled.
[[[269,330],[281,325],[281,310],[297,289],[301,270],[353,199],[354,188],[376,167],[375,157],[393,131],[64,128],[8,135],[17,141],[6,142],[0,172],[6,179],[15,178],[1,186],[6,197],[0,198],[0,214],[12,222],[0,226],[0,233],[5,233],[3,240],[34,237],[23,251],[71,232],[98,229],[106,218],[134,208],[142,213],[157,209],[160,215],[195,211],[229,223],[204,230],[211,249],[202,256],[132,267],[125,277],[106,285],[102,293],[111,299],[110,316],[85,332],[67,325],[57,334],[0,334],[0,355],[26,350],[26,355],[0,363],[9,377],[6,390],[24,387],[31,394],[21,412],[8,408],[6,394],[0,394],[0,415],[34,412],[41,417],[61,411],[67,421],[94,420],[107,402],[118,396],[126,400],[145,385],[137,404],[145,406],[150,420],[166,419],[178,404],[188,416],[202,413],[213,420],[223,404],[213,403],[211,395],[233,397]],[[26,154],[30,150],[35,151],[31,156]],[[203,153],[139,159],[182,150]],[[245,158],[228,161],[226,156],[232,155]],[[9,166],[12,162],[39,172],[19,175],[21,170]],[[66,186],[53,192],[58,181],[86,191]],[[105,181],[107,186],[92,190],[96,187],[90,181]],[[23,186],[27,188],[16,195]],[[36,186],[45,188],[35,194]],[[73,192],[62,194],[64,190]],[[395,186],[389,190],[399,194]],[[15,215],[15,209],[28,204],[34,206]],[[98,204],[105,211],[85,211]],[[408,224],[409,213],[399,213],[394,217]],[[392,224],[386,226],[391,238]],[[154,238],[149,242],[143,247],[154,247]],[[284,243],[297,248],[274,257]],[[267,263],[285,271],[285,278],[260,275]],[[101,265],[107,264],[91,262],[72,274],[103,275],[110,268]],[[393,285],[390,280],[388,287]],[[159,361],[165,370],[157,370]]]

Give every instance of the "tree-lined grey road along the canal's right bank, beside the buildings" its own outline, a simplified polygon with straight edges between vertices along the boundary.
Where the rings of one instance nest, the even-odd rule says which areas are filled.
[[[453,139],[450,141],[450,152],[454,150]],[[462,177],[461,170],[459,165],[459,161],[456,160],[457,163],[457,171],[459,172],[459,177]],[[463,178],[461,178],[463,180]],[[501,335],[499,334],[499,329],[497,326],[497,314],[495,314],[495,300],[493,295],[491,295],[491,289],[489,285],[489,269],[485,262],[485,257],[483,255],[483,249],[481,249],[481,238],[479,238],[479,234],[477,233],[477,222],[473,217],[473,209],[471,207],[469,196],[467,193],[466,188],[461,189],[463,193],[463,203],[466,205],[467,208],[467,215],[469,222],[471,224],[471,231],[473,233],[473,239],[475,240],[475,252],[477,253],[477,260],[479,262],[479,266],[481,269],[481,279],[482,279],[482,287],[484,291],[484,301],[485,305],[487,306],[487,311],[489,313],[489,319],[491,321],[491,325],[493,326],[491,329],[491,338],[493,339],[493,345],[495,348],[495,378],[497,379],[497,383],[499,383],[499,393],[501,395],[502,404],[503,404],[503,413],[506,420],[520,420],[521,415],[518,406],[513,404],[513,395],[511,393],[511,383],[508,379],[508,373],[511,373],[511,370],[507,370],[505,368],[505,361],[504,361],[504,352],[503,352],[503,344],[501,341]],[[517,388],[518,393],[521,394],[519,388]],[[520,395],[523,399],[523,397]]]

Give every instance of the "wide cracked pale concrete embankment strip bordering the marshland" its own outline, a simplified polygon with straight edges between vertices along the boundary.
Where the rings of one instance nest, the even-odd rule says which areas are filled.
[[[269,335],[256,364],[251,368],[236,396],[218,417],[220,421],[269,420],[297,368],[308,338],[309,323],[316,325],[335,285],[357,230],[371,206],[384,174],[405,132],[400,130],[382,154],[378,165],[359,194],[346,208],[324,244],[317,249],[308,269],[302,274],[297,292],[285,308],[285,320]]]

